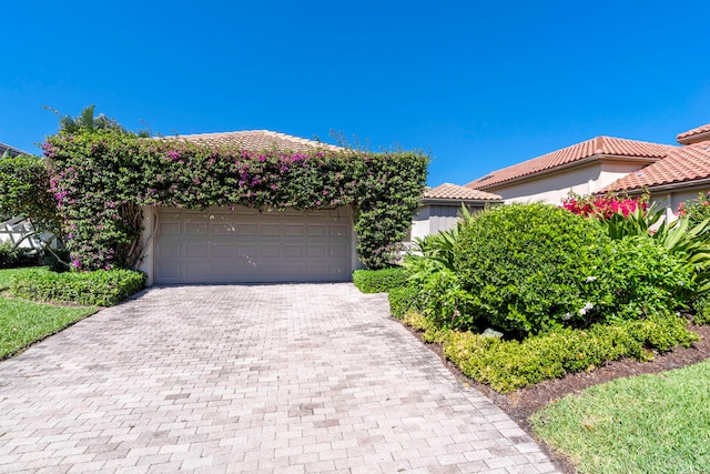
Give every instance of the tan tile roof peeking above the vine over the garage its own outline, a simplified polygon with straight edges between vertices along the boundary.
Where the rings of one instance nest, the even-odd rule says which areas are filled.
[[[205,143],[209,145],[239,147],[252,151],[267,150],[274,147],[278,150],[292,150],[302,152],[313,151],[314,149],[326,149],[332,151],[344,150],[341,147],[287,135],[285,133],[272,132],[268,130],[250,130],[225,133],[200,133],[168,138],[182,139],[195,143]]]

